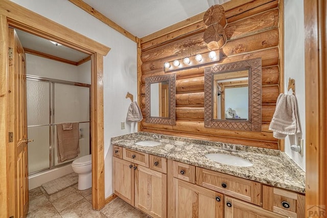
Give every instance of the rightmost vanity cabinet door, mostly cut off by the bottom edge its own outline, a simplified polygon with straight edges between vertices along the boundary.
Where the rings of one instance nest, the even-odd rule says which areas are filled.
[[[225,218],[286,218],[259,206],[225,197]]]

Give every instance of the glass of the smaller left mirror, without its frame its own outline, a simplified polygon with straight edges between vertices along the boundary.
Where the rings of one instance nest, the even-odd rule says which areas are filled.
[[[169,117],[169,81],[150,85],[151,117]]]

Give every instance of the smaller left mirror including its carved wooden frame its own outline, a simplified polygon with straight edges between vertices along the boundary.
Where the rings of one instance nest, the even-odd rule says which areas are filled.
[[[145,79],[146,122],[176,124],[176,75],[162,75]]]

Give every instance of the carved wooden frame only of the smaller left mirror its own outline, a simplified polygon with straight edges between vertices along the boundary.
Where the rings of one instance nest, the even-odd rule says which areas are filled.
[[[169,82],[169,117],[154,117],[151,116],[151,84],[159,82]],[[176,125],[176,74],[148,77],[145,79],[145,99],[146,99],[146,123],[152,124],[165,124],[165,125]]]

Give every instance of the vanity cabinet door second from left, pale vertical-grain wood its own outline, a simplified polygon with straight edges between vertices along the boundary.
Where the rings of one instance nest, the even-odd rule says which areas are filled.
[[[167,175],[138,165],[135,207],[152,217],[167,217]]]

